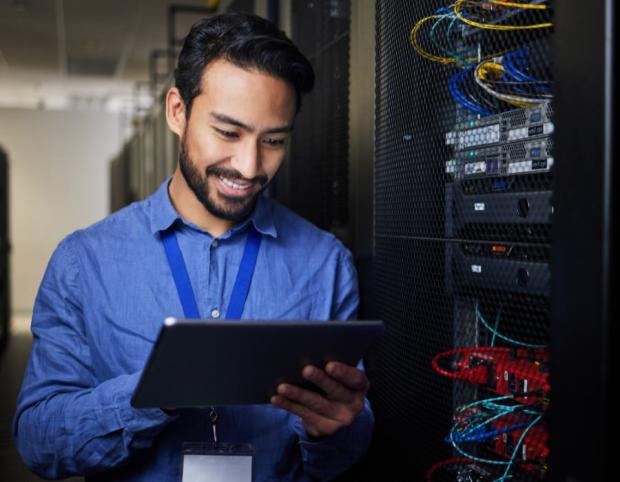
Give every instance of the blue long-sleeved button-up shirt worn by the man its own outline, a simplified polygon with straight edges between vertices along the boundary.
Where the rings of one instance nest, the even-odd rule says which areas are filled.
[[[242,319],[356,316],[352,256],[333,235],[260,197],[214,239],[179,216],[168,183],[71,234],[49,262],[13,424],[24,461],[46,478],[180,481],[182,444],[211,441],[205,410],[129,403],[163,320],[184,317],[160,239],[172,224],[202,317],[226,312],[250,222],[263,240]],[[368,401],[352,425],[320,440],[271,405],[219,407],[218,416],[220,441],[253,444],[260,482],[331,479],[365,453],[373,427]]]

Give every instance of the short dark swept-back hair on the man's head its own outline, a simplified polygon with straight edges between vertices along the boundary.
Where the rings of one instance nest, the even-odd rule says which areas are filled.
[[[200,94],[202,74],[209,62],[218,58],[290,82],[297,96],[297,112],[302,95],[314,85],[310,61],[273,23],[245,13],[203,18],[185,38],[174,72],[188,118],[192,101]]]

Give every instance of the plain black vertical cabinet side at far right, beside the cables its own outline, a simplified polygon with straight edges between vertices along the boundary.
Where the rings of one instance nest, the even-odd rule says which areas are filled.
[[[613,0],[562,0],[556,10],[551,479],[611,480],[618,10]]]

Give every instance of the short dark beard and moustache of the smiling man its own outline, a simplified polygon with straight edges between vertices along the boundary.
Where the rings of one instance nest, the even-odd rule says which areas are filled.
[[[231,197],[218,191],[210,192],[209,176],[213,176],[214,178],[222,176],[231,181],[243,179],[243,176],[236,170],[224,169],[217,166],[207,167],[204,176],[202,176],[196,168],[196,164],[189,157],[185,136],[183,136],[181,141],[179,166],[181,168],[181,174],[183,174],[185,178],[185,182],[205,209],[220,219],[225,219],[234,223],[244,221],[252,211],[254,211],[258,196],[268,185],[267,177],[260,175],[251,180],[254,184],[258,183],[261,186],[254,194],[249,194],[244,197]],[[252,187],[249,189],[252,189]]]

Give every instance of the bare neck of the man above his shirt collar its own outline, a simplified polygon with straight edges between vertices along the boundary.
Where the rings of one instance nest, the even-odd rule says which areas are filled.
[[[168,185],[168,195],[174,209],[183,219],[204,229],[214,238],[217,238],[234,226],[232,221],[218,218],[204,207],[187,185],[178,165],[172,176],[172,181]]]

